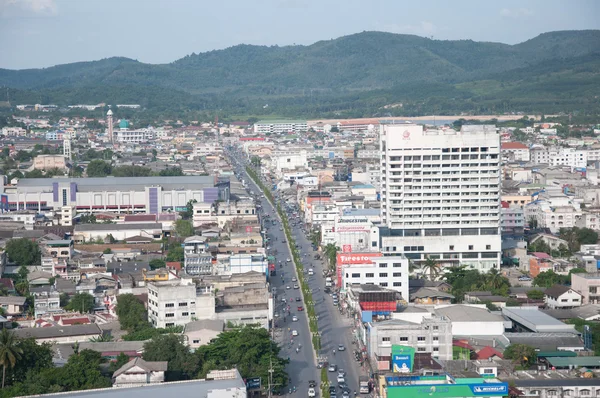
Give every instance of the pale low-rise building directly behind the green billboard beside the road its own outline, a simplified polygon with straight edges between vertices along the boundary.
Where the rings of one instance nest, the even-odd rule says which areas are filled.
[[[414,347],[415,352],[430,353],[437,359],[452,359],[452,324],[442,317],[424,318],[420,323],[393,319],[367,327],[371,363],[390,357],[394,344]]]

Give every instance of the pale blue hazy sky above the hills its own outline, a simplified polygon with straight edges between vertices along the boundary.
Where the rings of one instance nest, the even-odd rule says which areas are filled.
[[[516,44],[600,29],[597,0],[0,0],[0,68],[123,56],[169,63],[237,44],[312,44],[362,31]]]

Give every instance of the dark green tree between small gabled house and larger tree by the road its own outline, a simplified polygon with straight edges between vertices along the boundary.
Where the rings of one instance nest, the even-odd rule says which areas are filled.
[[[144,344],[142,357],[146,361],[167,361],[166,377],[169,381],[195,378],[200,370],[200,357],[190,352],[181,335],[154,337]]]

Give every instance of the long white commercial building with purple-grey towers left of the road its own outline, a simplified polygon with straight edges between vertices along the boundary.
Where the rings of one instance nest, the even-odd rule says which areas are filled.
[[[213,203],[229,199],[229,179],[214,176],[23,178],[5,187],[9,210],[79,212],[184,211],[190,200]]]

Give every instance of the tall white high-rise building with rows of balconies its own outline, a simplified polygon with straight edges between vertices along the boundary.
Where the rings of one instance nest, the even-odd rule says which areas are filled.
[[[381,248],[415,263],[434,259],[480,271],[500,267],[500,137],[380,126]]]

